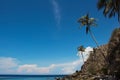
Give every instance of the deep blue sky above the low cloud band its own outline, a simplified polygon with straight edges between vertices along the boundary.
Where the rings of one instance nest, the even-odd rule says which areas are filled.
[[[54,4],[55,2],[55,4]],[[97,0],[0,0],[0,57],[16,58],[20,64],[51,64],[78,59],[77,47],[95,47],[77,20],[87,12],[97,18],[92,31],[100,45],[118,27],[98,11]]]

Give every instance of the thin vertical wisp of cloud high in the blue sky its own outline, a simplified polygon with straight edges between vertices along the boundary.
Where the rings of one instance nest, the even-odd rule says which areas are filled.
[[[52,1],[52,5],[54,8],[55,19],[57,21],[57,25],[59,25],[60,20],[61,20],[60,7],[59,7],[58,2],[56,0],[51,0],[51,1]]]

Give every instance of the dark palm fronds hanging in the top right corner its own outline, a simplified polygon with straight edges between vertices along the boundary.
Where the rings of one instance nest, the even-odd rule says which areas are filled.
[[[109,18],[117,14],[120,22],[120,0],[99,0],[97,3],[98,10],[103,9],[104,16]]]

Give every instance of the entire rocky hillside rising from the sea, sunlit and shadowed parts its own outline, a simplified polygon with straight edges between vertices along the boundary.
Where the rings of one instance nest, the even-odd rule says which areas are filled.
[[[108,44],[102,45],[99,48],[94,48],[94,51],[91,52],[88,60],[81,67],[80,71],[76,71],[73,75],[63,79],[95,80],[96,77],[105,77],[105,75],[116,76],[120,79],[120,28],[113,31]]]

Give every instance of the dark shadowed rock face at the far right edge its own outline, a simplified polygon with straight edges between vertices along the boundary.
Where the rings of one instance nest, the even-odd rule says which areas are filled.
[[[115,29],[108,44],[109,74],[120,78],[120,28]]]

